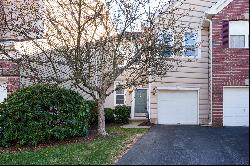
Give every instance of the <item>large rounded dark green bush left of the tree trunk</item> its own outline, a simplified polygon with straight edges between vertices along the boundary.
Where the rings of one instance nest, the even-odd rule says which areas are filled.
[[[20,89],[0,105],[0,146],[85,136],[89,110],[71,90],[39,84]]]

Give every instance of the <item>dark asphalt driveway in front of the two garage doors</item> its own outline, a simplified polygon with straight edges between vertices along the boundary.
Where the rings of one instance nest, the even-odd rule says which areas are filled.
[[[157,125],[119,165],[249,164],[249,128]]]

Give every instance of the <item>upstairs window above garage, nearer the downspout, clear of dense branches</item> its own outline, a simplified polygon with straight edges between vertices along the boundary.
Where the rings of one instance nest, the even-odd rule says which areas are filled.
[[[197,32],[185,32],[184,34],[184,56],[197,57],[198,56],[198,33]]]

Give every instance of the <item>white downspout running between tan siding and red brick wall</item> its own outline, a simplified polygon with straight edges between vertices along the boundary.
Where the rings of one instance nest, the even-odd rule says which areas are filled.
[[[210,122],[208,123],[208,126],[212,126],[213,124],[213,24],[212,20],[210,19],[205,19],[206,21],[209,22],[209,45],[210,45]]]

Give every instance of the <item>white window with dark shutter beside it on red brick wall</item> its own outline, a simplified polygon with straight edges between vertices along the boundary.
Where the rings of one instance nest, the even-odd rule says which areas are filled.
[[[229,22],[229,48],[249,48],[249,22]]]

